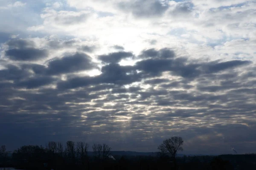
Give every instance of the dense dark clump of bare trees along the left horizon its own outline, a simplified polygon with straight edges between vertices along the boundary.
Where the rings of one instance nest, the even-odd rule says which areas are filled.
[[[12,164],[20,169],[67,169],[78,167],[89,169],[89,162],[106,161],[110,159],[111,147],[108,144],[93,144],[93,155],[88,155],[89,144],[85,142],[67,141],[48,142],[45,147],[38,145],[24,145],[14,150],[12,159],[8,157],[6,146],[0,150],[0,167]]]

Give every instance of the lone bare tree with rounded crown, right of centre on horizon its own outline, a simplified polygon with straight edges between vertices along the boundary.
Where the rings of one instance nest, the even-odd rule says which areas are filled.
[[[172,159],[174,160],[175,169],[176,169],[176,155],[178,151],[183,151],[183,148],[181,147],[183,142],[184,141],[181,137],[172,136],[171,138],[164,140],[163,143],[160,144],[158,147],[160,152],[166,153],[166,151],[168,151],[171,154]]]

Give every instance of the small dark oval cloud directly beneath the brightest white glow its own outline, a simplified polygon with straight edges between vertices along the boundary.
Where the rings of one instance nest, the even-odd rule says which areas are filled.
[[[106,63],[117,63],[120,62],[121,59],[128,57],[133,57],[133,54],[131,52],[119,51],[108,55],[100,55],[99,59]]]

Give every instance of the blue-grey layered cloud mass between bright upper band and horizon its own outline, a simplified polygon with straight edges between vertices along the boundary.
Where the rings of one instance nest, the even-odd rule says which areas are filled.
[[[20,40],[11,46],[33,44]],[[106,142],[113,150],[134,150],[137,144],[141,151],[157,151],[163,138],[178,135],[185,141],[184,153],[218,154],[225,147],[229,153],[236,142],[237,150],[250,151],[243,145],[256,140],[255,65],[191,60],[169,48],[144,50],[137,58],[142,60],[123,66],[116,63],[120,57],[109,57],[93,77],[68,74],[96,67],[83,53],[48,65],[6,62],[0,70],[3,142],[85,140]],[[68,74],[67,79],[59,74]]]

